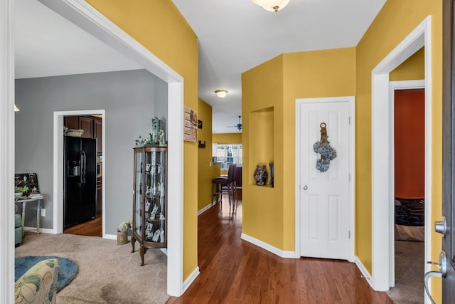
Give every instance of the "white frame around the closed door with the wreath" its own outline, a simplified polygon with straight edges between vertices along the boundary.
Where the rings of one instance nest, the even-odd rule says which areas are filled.
[[[355,248],[355,97],[346,96],[346,97],[328,97],[328,98],[299,98],[296,99],[296,152],[295,152],[295,162],[296,162],[296,225],[295,225],[295,258],[300,258],[300,199],[301,199],[301,179],[300,179],[300,105],[304,103],[340,103],[348,102],[349,104],[349,194],[348,194],[348,204],[349,204],[349,261],[354,261],[354,248]]]

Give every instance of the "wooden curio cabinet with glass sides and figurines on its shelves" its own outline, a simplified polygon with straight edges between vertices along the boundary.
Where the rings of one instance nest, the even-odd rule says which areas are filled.
[[[133,231],[141,266],[148,248],[167,246],[167,147],[134,148]]]

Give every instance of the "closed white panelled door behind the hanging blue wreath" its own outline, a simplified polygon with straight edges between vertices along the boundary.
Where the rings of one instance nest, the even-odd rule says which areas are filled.
[[[299,110],[300,256],[348,259],[349,103],[301,103]],[[326,172],[316,169],[321,154],[313,147],[323,122],[336,151]]]

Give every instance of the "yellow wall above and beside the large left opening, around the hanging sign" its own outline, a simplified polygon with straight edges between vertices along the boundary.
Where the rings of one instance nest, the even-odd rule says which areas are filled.
[[[198,41],[171,0],[87,0],[185,81],[185,105],[198,108]],[[183,279],[198,266],[198,145],[184,142]]]

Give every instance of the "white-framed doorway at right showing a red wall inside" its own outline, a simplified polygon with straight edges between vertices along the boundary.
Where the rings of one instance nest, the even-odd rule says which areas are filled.
[[[395,238],[391,240],[390,291],[392,300],[423,301],[425,247],[425,100],[424,80],[390,83],[395,185]]]

